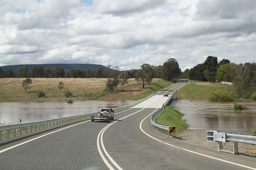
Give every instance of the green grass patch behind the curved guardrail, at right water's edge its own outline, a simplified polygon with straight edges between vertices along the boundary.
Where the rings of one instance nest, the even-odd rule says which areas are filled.
[[[188,128],[186,120],[182,119],[183,115],[180,111],[167,106],[164,112],[156,118],[155,122],[162,125],[175,126],[176,134],[179,134],[180,131]]]

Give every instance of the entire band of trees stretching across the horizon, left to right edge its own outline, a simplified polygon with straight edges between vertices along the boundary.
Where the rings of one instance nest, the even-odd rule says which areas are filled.
[[[249,96],[256,91],[256,63],[235,64],[223,59],[218,62],[217,57],[208,56],[204,63],[198,64],[191,69],[181,71],[179,63],[168,59],[163,65],[154,66],[142,64],[141,69],[120,71],[119,67],[108,66],[109,69],[97,67],[88,68],[86,71],[72,69],[65,71],[62,67],[43,69],[41,66],[28,70],[27,66],[17,68],[16,72],[3,71],[0,67],[0,78],[108,78],[107,90],[115,90],[117,87],[123,89],[130,78],[135,78],[138,83],[145,87],[154,78],[161,78],[166,81],[176,82],[179,78],[205,81],[205,82],[232,82],[240,98]],[[246,97],[245,97],[246,98]]]

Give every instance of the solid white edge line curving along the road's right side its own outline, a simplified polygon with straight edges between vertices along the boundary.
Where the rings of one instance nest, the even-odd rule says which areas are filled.
[[[155,109],[155,111],[156,111],[156,109]],[[154,111],[154,112],[155,112],[155,111]],[[152,112],[152,113],[154,113],[154,112]],[[151,114],[152,114],[152,113],[151,113]],[[148,116],[150,116],[151,114],[149,114]],[[148,116],[147,116],[147,117],[148,117]],[[151,137],[152,139],[155,139],[155,140],[157,140],[157,141],[159,141],[159,142],[165,143],[165,144],[167,144],[167,145],[169,145],[169,146],[171,146],[171,147],[178,148],[178,149],[181,149],[181,150],[184,150],[184,151],[187,151],[187,152],[191,152],[191,153],[193,153],[193,154],[198,154],[198,155],[205,156],[205,157],[208,157],[208,158],[211,158],[211,159],[216,159],[216,160],[219,160],[219,161],[222,161],[222,162],[226,162],[226,163],[230,163],[230,164],[233,164],[233,165],[238,165],[238,166],[245,167],[245,168],[248,168],[248,169],[256,170],[256,168],[253,168],[253,167],[249,167],[249,166],[246,166],[246,165],[242,165],[242,164],[238,164],[238,163],[226,161],[226,160],[219,159],[219,158],[214,158],[214,157],[212,157],[212,156],[208,156],[208,155],[204,155],[204,154],[200,154],[200,153],[197,153],[197,152],[194,152],[194,151],[190,151],[190,150],[187,150],[187,149],[184,149],[184,148],[176,147],[175,145],[172,145],[172,144],[166,143],[166,142],[164,142],[164,141],[162,141],[162,140],[156,139],[156,138],[154,138],[153,136],[150,136],[149,134],[147,134],[147,133],[142,129],[142,123],[143,123],[143,121],[144,121],[147,117],[145,117],[145,118],[142,120],[142,122],[141,122],[141,124],[140,124],[140,129],[141,129],[141,131],[142,131],[143,133],[145,133],[147,136]]]

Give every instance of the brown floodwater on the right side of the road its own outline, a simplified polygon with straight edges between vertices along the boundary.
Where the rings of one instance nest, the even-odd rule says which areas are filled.
[[[172,101],[170,106],[184,113],[189,129],[219,130],[226,133],[250,135],[256,131],[256,102],[238,104],[248,110],[234,110],[233,102]]]

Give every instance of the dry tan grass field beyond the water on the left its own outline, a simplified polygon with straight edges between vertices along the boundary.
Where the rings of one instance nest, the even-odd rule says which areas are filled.
[[[0,102],[10,101],[62,101],[64,92],[69,90],[73,93],[74,100],[91,100],[95,96],[100,96],[106,86],[105,78],[31,78],[31,88],[25,93],[22,82],[25,78],[3,78],[0,79]],[[159,80],[154,80],[159,81]],[[64,89],[60,92],[58,83],[64,83]],[[137,84],[134,79],[130,79],[128,85]],[[44,91],[47,98],[37,98],[38,91]]]

